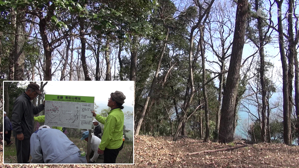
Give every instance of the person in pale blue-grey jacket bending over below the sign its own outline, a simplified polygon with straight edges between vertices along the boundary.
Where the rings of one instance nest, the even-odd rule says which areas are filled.
[[[32,163],[87,163],[80,149],[60,130],[40,126],[30,138]]]

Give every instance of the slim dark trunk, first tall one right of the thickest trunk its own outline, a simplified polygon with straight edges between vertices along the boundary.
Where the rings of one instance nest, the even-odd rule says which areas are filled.
[[[259,7],[259,0],[255,0],[255,10],[257,11]],[[264,55],[264,39],[263,39],[263,20],[260,16],[257,17],[257,29],[259,32],[259,53],[260,53],[260,82],[262,86],[262,122],[261,122],[261,141],[266,142],[266,87],[265,87],[265,55]]]

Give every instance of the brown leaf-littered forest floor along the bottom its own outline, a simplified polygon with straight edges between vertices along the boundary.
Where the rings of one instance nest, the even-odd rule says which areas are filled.
[[[6,143],[6,142],[5,142]],[[230,144],[203,142],[192,138],[180,138],[172,141],[172,137],[152,137],[139,135],[135,137],[135,156],[133,165],[47,165],[52,167],[203,167],[203,168],[234,168],[234,167],[299,167],[299,146],[285,144],[245,144],[244,141],[234,141]],[[188,153],[204,150],[236,148],[218,152],[202,152],[196,155]],[[3,157],[3,147],[0,146],[0,157]],[[37,165],[3,165],[0,167],[45,167]]]

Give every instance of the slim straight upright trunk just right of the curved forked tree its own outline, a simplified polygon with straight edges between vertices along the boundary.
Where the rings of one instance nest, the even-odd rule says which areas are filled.
[[[200,43],[200,53],[202,56],[202,84],[205,84],[206,79],[206,71],[205,71],[205,51],[203,46],[204,41],[204,27],[199,28],[199,43]],[[207,95],[207,87],[204,86],[202,88],[203,96],[204,96],[204,104],[205,104],[205,126],[206,126],[206,132],[205,132],[205,142],[209,141],[210,137],[210,119],[209,119],[209,108],[208,108],[208,95]]]

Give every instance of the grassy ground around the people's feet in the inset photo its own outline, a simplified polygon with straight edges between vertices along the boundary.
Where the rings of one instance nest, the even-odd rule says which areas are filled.
[[[87,152],[87,142],[81,141],[80,138],[72,138],[68,137],[78,148],[83,148],[85,152]],[[16,152],[16,143],[15,138],[11,136],[11,141],[13,141],[13,144],[9,147],[5,146],[6,141],[4,141],[4,147],[3,147],[3,153],[4,153],[4,161],[10,161],[10,163],[17,163],[17,152]],[[123,144],[123,149],[119,152],[116,163],[129,163],[130,155],[132,152],[132,143],[125,143]],[[132,154],[133,155],[133,154]],[[32,159],[30,155],[30,160]],[[133,162],[133,156],[131,157],[131,162]]]

